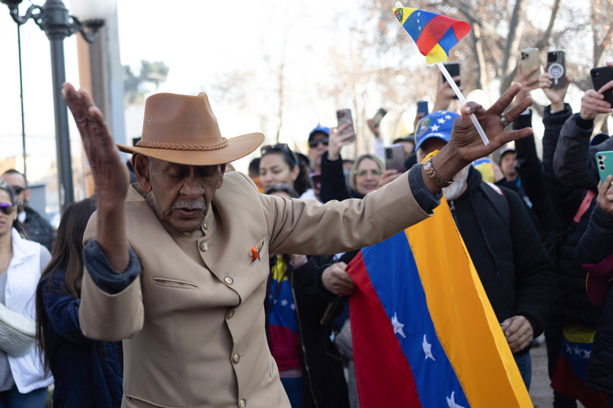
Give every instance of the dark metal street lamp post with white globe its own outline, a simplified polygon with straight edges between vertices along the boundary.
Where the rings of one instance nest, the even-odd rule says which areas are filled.
[[[58,162],[59,205],[64,213],[74,201],[72,184],[72,159],[70,157],[70,135],[68,130],[68,109],[62,96],[62,85],[66,82],[64,65],[64,39],[76,32],[91,43],[96,41],[99,29],[115,10],[115,0],[72,0],[72,9],[81,15],[83,23],[71,16],[61,0],[47,0],[40,7],[32,4],[25,15],[20,16],[18,6],[22,0],[0,0],[9,6],[10,16],[19,26],[30,18],[40,27],[50,42],[51,76],[53,79],[53,108],[55,110],[55,143]],[[25,159],[25,158],[24,158]]]

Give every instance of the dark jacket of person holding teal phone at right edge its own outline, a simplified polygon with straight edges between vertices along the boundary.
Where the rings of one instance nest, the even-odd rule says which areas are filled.
[[[587,231],[575,251],[581,265],[600,264],[613,253],[613,215],[596,206]],[[613,285],[609,285],[604,313],[598,324],[587,363],[587,384],[601,393],[613,395]]]

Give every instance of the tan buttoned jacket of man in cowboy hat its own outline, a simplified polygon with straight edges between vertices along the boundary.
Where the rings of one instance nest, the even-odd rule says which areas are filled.
[[[202,229],[185,236],[159,221],[151,194],[132,185],[126,232],[140,279],[110,295],[85,271],[81,328],[89,338],[123,339],[124,408],[289,408],[264,330],[268,253],[355,250],[428,217],[406,174],[362,200],[321,205],[261,195],[230,172],[211,204]],[[85,241],[95,236],[95,217]]]

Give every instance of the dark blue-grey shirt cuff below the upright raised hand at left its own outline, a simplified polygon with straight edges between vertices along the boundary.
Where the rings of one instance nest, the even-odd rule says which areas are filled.
[[[83,262],[89,276],[104,292],[114,295],[126,289],[140,275],[140,262],[131,248],[128,248],[130,263],[126,272],[117,272],[96,240],[89,241],[83,248]]]

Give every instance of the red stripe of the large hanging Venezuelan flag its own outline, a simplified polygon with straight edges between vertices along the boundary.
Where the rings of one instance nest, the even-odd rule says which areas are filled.
[[[356,282],[356,291],[349,298],[351,339],[356,365],[357,392],[362,408],[421,408],[413,371],[394,334],[394,327],[368,277],[362,252],[348,267]],[[368,372],[368,384],[360,382],[360,372]],[[375,380],[373,380],[375,379]]]

